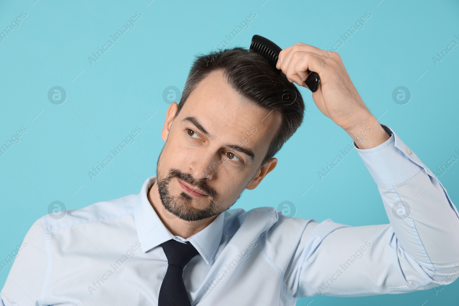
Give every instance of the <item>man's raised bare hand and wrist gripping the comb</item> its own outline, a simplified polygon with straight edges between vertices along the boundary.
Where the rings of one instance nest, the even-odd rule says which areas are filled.
[[[285,73],[290,82],[306,88],[306,71],[317,72],[320,84],[313,93],[313,100],[319,110],[343,128],[354,141],[365,128],[371,128],[365,141],[358,145],[360,149],[373,148],[389,139],[360,98],[338,53],[297,43],[280,51],[276,67]]]

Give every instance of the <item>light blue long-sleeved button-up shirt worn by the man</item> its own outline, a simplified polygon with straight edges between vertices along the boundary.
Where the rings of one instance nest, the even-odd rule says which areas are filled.
[[[382,127],[390,139],[355,150],[390,224],[352,227],[285,219],[273,207],[232,209],[182,239],[147,199],[152,176],[138,195],[37,220],[0,293],[3,305],[157,305],[168,267],[160,244],[168,239],[190,241],[199,252],[183,274],[191,305],[295,305],[304,296],[450,284],[459,273],[458,211],[435,175]]]

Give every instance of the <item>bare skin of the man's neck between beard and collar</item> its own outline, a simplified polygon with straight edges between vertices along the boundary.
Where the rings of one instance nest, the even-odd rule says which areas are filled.
[[[171,232],[174,236],[179,236],[184,239],[188,239],[194,234],[198,233],[202,229],[206,228],[207,225],[217,217],[209,217],[207,219],[198,221],[185,221],[179,217],[174,216],[162,206],[161,199],[159,198],[158,184],[155,183],[151,186],[147,193],[148,201],[150,202],[156,214],[161,219],[162,224]]]

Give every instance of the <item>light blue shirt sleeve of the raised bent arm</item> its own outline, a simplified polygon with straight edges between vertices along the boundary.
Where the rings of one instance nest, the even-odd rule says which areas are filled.
[[[381,126],[390,135],[383,144],[354,147],[377,185],[390,224],[309,222],[284,278],[292,296],[398,294],[458,277],[457,208],[431,170],[391,128]]]

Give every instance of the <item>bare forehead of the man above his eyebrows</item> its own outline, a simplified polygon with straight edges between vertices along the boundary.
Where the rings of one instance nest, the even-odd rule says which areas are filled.
[[[241,97],[224,81],[219,70],[211,72],[190,94],[178,117],[182,120],[188,116],[196,117],[212,140],[234,144],[239,141],[256,152],[257,159],[264,157],[263,152],[267,152],[280,124],[278,113]],[[255,128],[247,142],[247,133]]]

